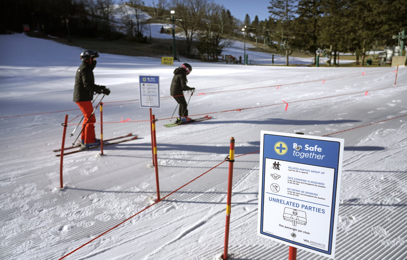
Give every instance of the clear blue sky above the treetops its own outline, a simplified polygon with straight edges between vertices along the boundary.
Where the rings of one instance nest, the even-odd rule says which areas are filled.
[[[153,6],[153,0],[143,0],[147,6]],[[171,2],[168,0],[167,2]],[[270,5],[267,0],[214,0],[215,3],[221,4],[225,9],[229,9],[232,15],[241,20],[245,20],[246,13],[250,16],[250,21],[254,20],[254,17],[257,15],[259,20],[265,20],[269,17],[269,10],[267,7]],[[154,0],[154,3],[157,4],[158,0]]]

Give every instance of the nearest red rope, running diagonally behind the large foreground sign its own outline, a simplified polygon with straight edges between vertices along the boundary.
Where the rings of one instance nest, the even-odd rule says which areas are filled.
[[[374,125],[374,124],[376,124],[376,123],[382,123],[382,122],[385,122],[385,121],[389,121],[389,120],[392,120],[392,119],[397,119],[397,118],[400,118],[400,117],[405,117],[405,116],[407,116],[407,114],[405,114],[405,115],[401,115],[401,116],[398,116],[398,117],[393,117],[393,118],[390,118],[390,119],[385,119],[385,120],[382,120],[382,121],[373,122],[373,123],[370,123],[370,124],[367,124],[367,125],[363,125],[363,126],[358,126],[358,127],[354,127],[354,128],[346,129],[346,130],[339,131],[339,132],[334,132],[334,133],[331,133],[331,134],[325,134],[325,135],[323,135],[323,137],[326,137],[326,136],[329,136],[329,135],[332,135],[332,134],[341,133],[341,132],[346,132],[346,131],[349,131],[349,130],[353,130],[353,129],[357,129],[357,128],[361,128],[361,127],[365,127],[365,126],[371,126],[371,125]],[[248,155],[248,154],[255,154],[255,153],[258,153],[258,152],[260,152],[260,151],[249,152],[249,153],[246,153],[246,154],[241,154],[241,155],[237,155],[237,156],[234,156],[234,157],[245,156],[245,155]],[[129,217],[129,218],[127,218],[127,219],[123,220],[122,222],[120,222],[120,223],[119,223],[119,224],[117,224],[116,226],[114,226],[114,227],[112,227],[111,229],[109,229],[109,230],[107,230],[107,231],[103,232],[103,233],[102,233],[102,234],[100,234],[99,236],[96,236],[95,238],[93,238],[93,239],[92,239],[92,240],[90,240],[89,242],[86,242],[85,244],[81,245],[80,247],[78,247],[78,248],[77,248],[77,249],[75,249],[74,251],[72,251],[72,252],[70,252],[70,253],[66,254],[65,256],[63,256],[63,257],[59,258],[58,260],[61,260],[61,259],[63,259],[63,258],[66,258],[67,256],[69,256],[70,254],[74,253],[75,251],[77,251],[77,250],[81,249],[81,248],[82,248],[82,247],[84,247],[85,245],[88,245],[89,243],[91,243],[92,241],[94,241],[94,240],[96,240],[96,239],[100,238],[101,236],[103,236],[104,234],[108,233],[109,231],[112,231],[112,230],[113,230],[113,229],[115,229],[116,227],[118,227],[118,226],[122,225],[123,223],[125,223],[127,220],[130,220],[131,218],[133,218],[133,217],[137,216],[138,214],[140,214],[140,213],[141,213],[141,212],[143,212],[144,210],[146,210],[146,209],[150,208],[151,206],[153,206],[153,205],[155,205],[155,204],[159,203],[160,201],[164,200],[164,199],[165,199],[165,198],[167,198],[168,196],[171,196],[171,195],[172,195],[172,194],[174,194],[175,192],[179,191],[180,189],[182,189],[182,188],[183,188],[183,187],[185,187],[186,185],[188,185],[188,184],[192,183],[193,181],[197,180],[197,179],[198,179],[198,178],[200,178],[201,176],[204,176],[204,174],[206,174],[206,173],[210,172],[211,170],[213,170],[214,168],[218,167],[219,165],[221,165],[221,164],[222,164],[222,163],[224,163],[224,162],[226,162],[226,161],[221,161],[221,162],[220,162],[220,163],[218,163],[216,166],[214,166],[214,167],[210,168],[210,170],[207,170],[207,171],[206,171],[206,172],[204,172],[203,174],[201,174],[201,175],[197,176],[197,177],[196,177],[196,178],[194,178],[193,180],[191,180],[191,181],[189,181],[188,183],[186,183],[186,184],[182,185],[181,187],[179,187],[178,189],[174,190],[173,192],[171,192],[171,193],[167,194],[166,196],[164,196],[164,197],[163,197],[163,198],[161,198],[160,200],[158,200],[158,201],[156,201],[155,203],[153,203],[153,204],[149,205],[148,207],[146,207],[146,208],[142,209],[141,211],[137,212],[137,213],[136,213],[136,214],[134,214],[133,216],[131,216],[131,217]]]

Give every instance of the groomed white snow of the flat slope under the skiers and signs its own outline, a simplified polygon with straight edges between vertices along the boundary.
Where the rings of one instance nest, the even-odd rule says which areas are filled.
[[[260,130],[343,138],[336,259],[407,258],[404,66],[394,86],[396,68],[389,66],[181,60],[192,65],[188,85],[197,90],[190,116],[213,118],[165,128],[176,106],[169,86],[179,63],[101,53],[96,84],[112,91],[103,99],[104,137],[132,132],[138,139],[106,146],[103,156],[97,149],[64,156],[60,189],[60,161],[52,150],[61,146],[66,114],[66,145],[77,134],[70,137],[82,116],[72,92],[83,50],[22,34],[0,35],[0,49],[0,259],[59,259],[84,244],[64,259],[219,259],[228,163],[212,167],[229,154],[230,137],[236,143],[229,259],[287,259],[286,245],[256,235]],[[160,76],[161,107],[153,114],[160,196],[166,198],[154,205],[149,110],[138,103],[139,75]],[[298,250],[298,259],[328,258]]]

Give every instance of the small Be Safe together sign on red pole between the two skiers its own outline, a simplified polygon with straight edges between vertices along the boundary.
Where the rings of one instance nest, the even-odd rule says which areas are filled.
[[[140,78],[140,107],[160,107],[160,77],[139,76]]]

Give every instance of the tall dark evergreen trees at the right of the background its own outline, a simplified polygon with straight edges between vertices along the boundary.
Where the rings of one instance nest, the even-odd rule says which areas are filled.
[[[268,9],[274,39],[281,35],[278,46],[287,57],[293,50],[315,57],[327,49],[334,64],[339,52],[364,57],[365,51],[397,45],[392,35],[407,27],[405,0],[270,0]]]

